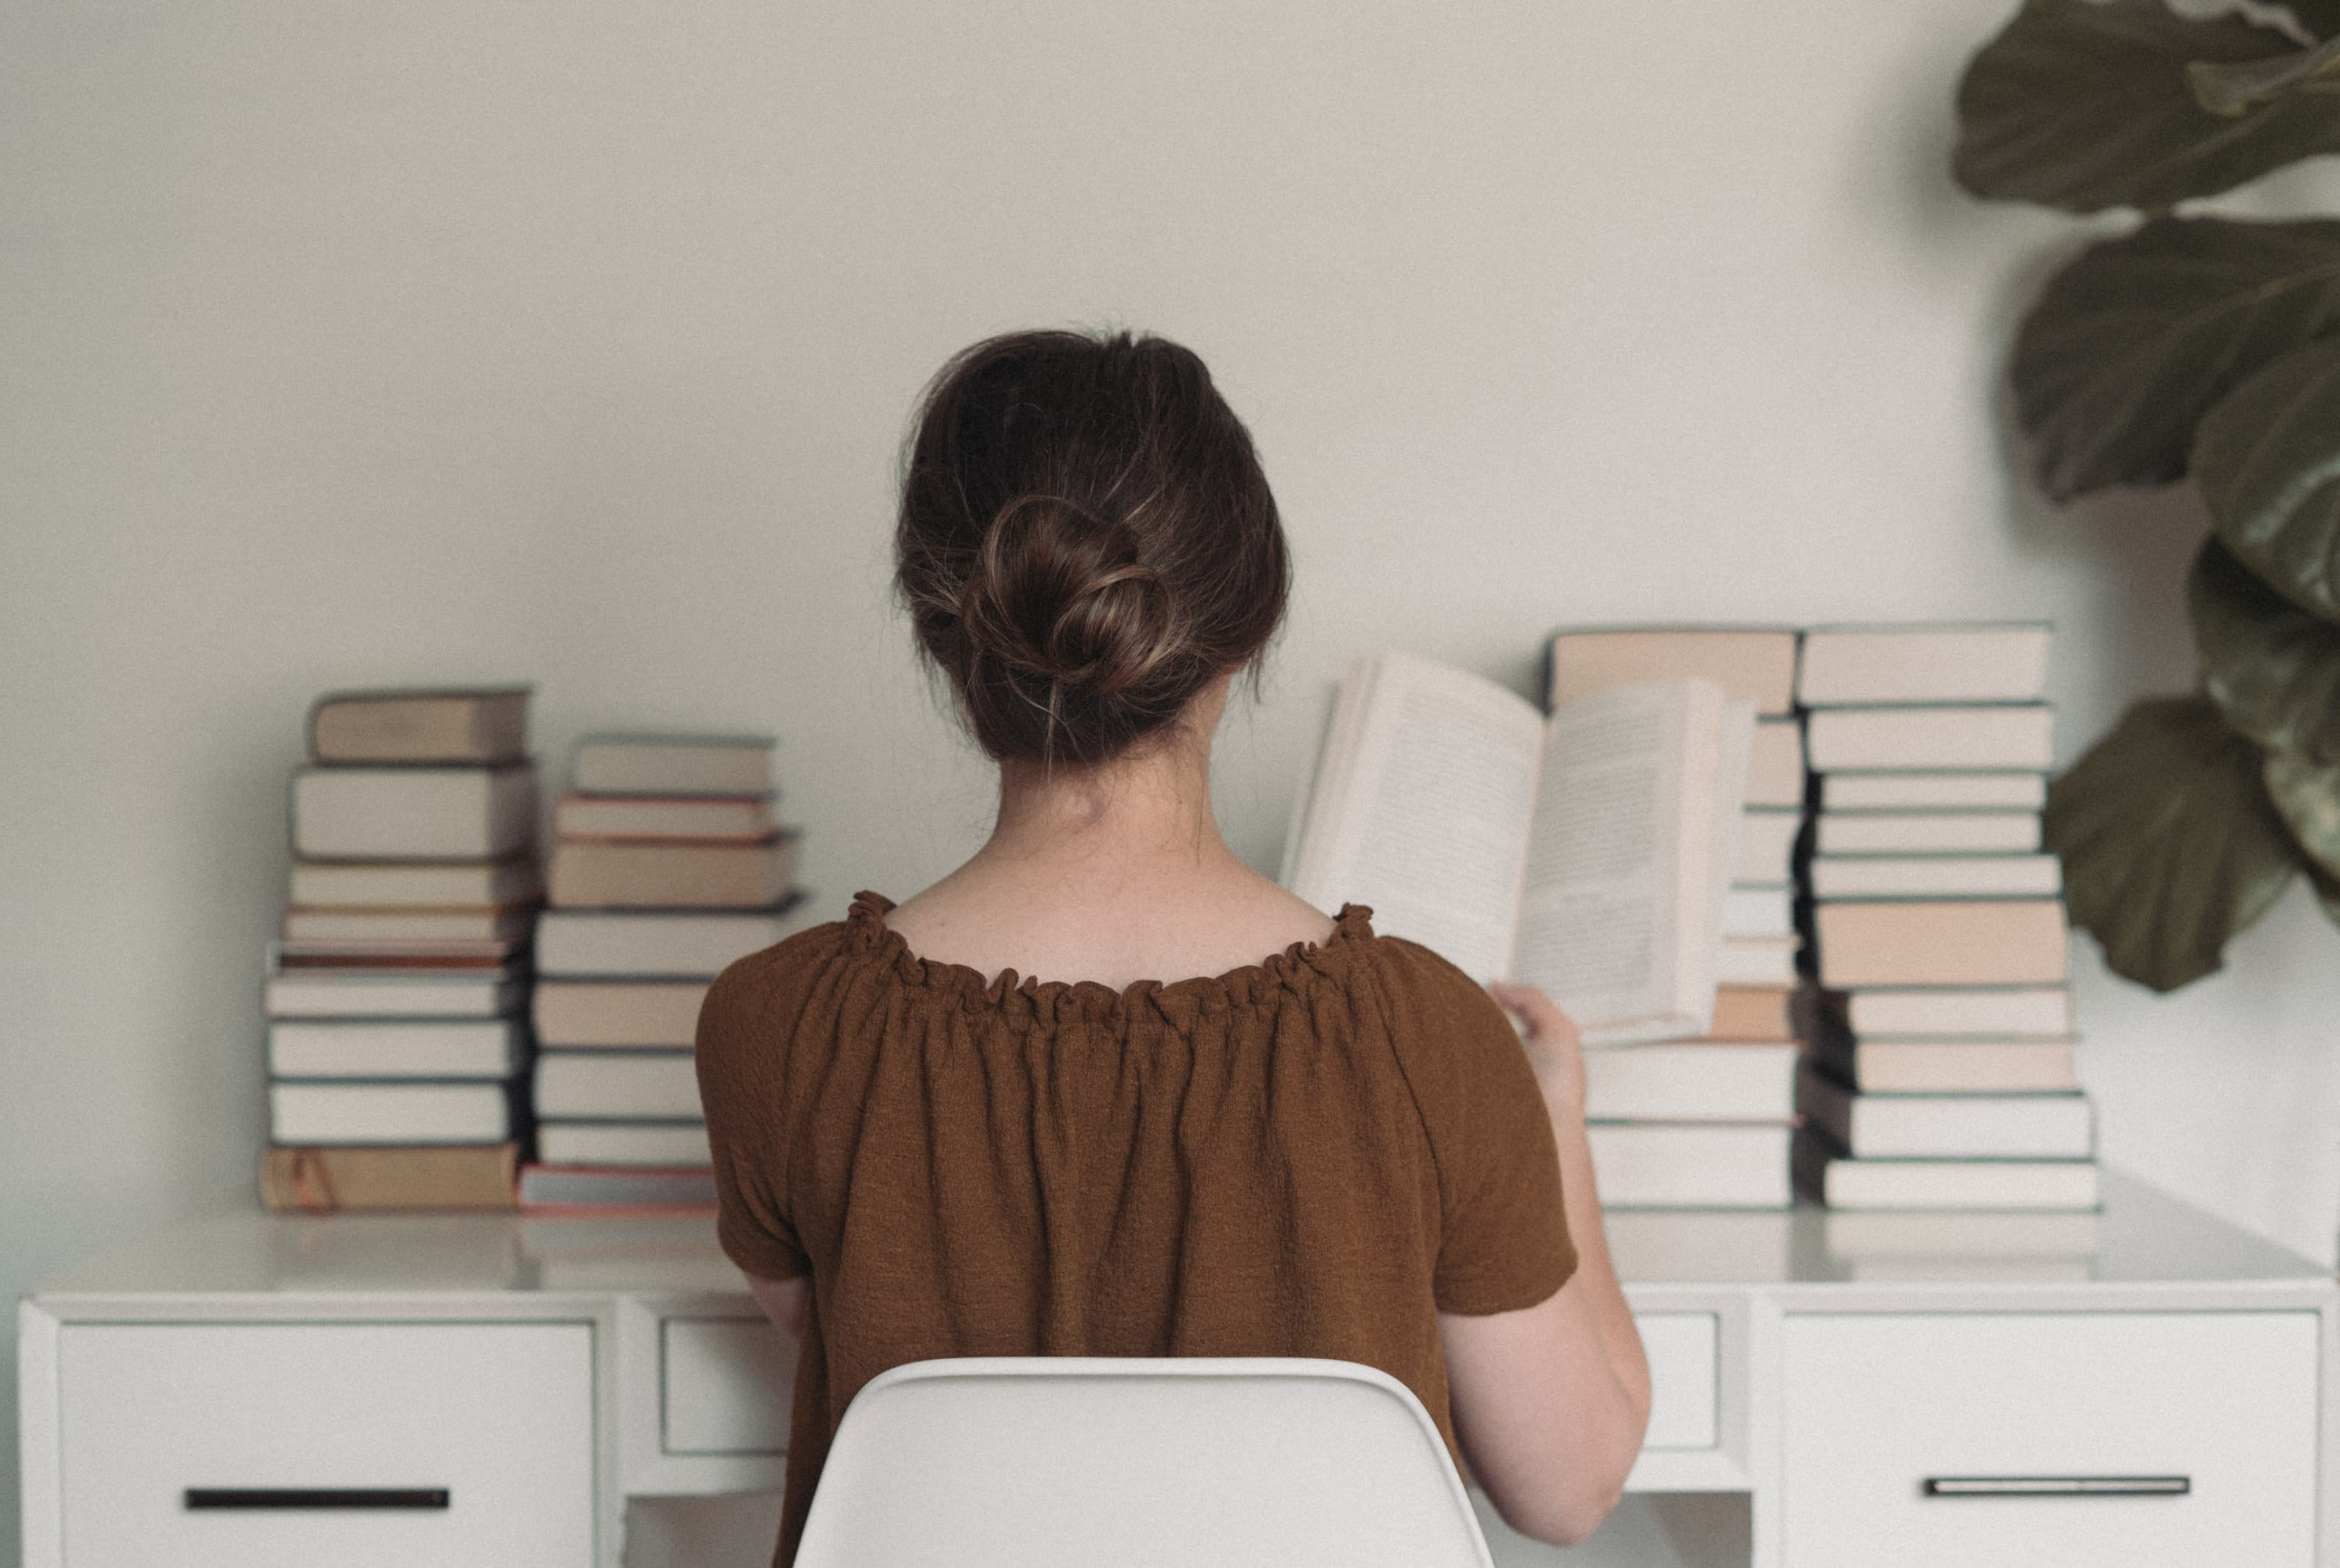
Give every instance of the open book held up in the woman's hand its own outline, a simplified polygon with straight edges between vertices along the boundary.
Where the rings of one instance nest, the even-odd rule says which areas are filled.
[[[1465,974],[1540,985],[1591,1044],[1704,1034],[1755,707],[1650,681],[1551,718],[1406,653],[1357,660],[1282,885]]]

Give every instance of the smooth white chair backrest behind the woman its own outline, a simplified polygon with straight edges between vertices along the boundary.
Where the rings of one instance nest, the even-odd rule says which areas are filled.
[[[966,1357],[870,1378],[796,1568],[1491,1568],[1404,1383],[1287,1357]]]

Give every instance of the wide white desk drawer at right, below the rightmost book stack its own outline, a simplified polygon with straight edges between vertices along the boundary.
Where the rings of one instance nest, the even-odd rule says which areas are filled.
[[[2314,1313],[1799,1315],[1783,1374],[1788,1568],[2314,1561]]]

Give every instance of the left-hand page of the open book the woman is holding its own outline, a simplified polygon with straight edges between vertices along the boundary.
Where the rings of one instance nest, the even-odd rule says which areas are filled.
[[[1310,791],[1292,892],[1324,910],[1371,906],[1376,931],[1477,981],[1505,974],[1540,740],[1535,707],[1493,681],[1404,653],[1360,662]]]

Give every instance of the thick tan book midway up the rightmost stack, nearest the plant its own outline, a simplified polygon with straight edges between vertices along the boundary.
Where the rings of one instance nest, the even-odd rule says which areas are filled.
[[[1823,985],[2052,985],[2064,978],[2062,899],[1823,903]]]

